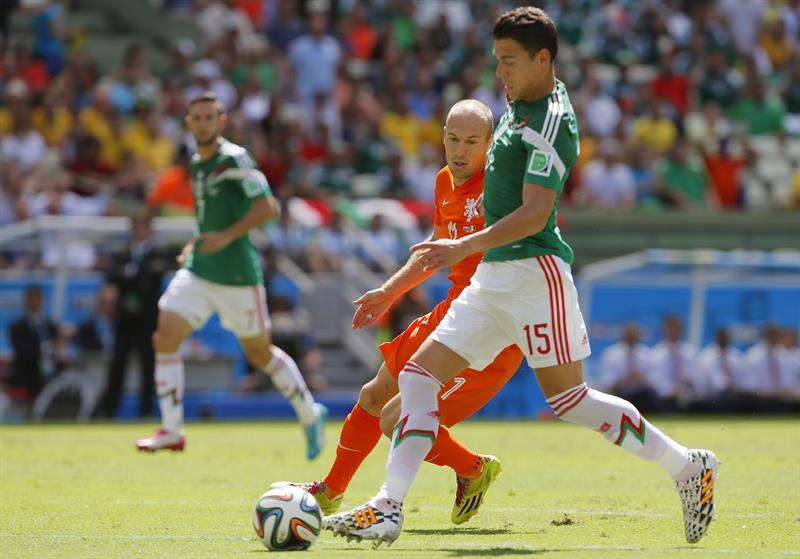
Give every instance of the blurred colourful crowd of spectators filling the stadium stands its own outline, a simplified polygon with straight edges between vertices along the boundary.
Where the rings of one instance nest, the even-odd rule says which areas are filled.
[[[8,32],[15,3],[31,40]],[[514,2],[162,0],[206,42],[175,37],[159,74],[133,38],[102,70],[63,23],[74,4],[4,4],[0,225],[190,213],[182,118],[206,89],[284,200],[430,200],[447,108],[464,97],[496,118],[505,108],[490,27]],[[557,75],[581,123],[562,205],[800,207],[800,2],[538,4],[559,26]],[[303,234],[321,247],[321,231]]]

